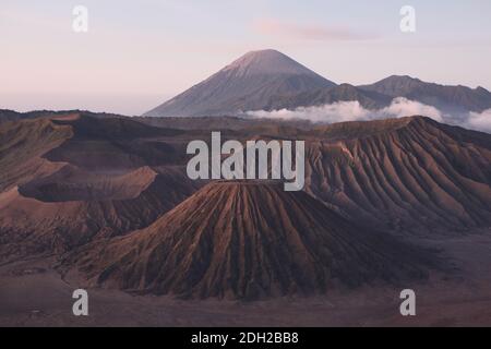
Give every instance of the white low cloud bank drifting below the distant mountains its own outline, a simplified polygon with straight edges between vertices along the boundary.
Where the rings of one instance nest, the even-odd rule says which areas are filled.
[[[466,115],[451,116],[443,113],[435,107],[404,97],[394,98],[388,107],[379,110],[366,109],[359,101],[354,100],[338,101],[316,107],[300,107],[295,110],[253,110],[247,111],[246,113],[253,118],[300,119],[326,123],[424,116],[439,122],[448,122],[467,129],[491,132],[491,109],[481,113],[469,112]]]

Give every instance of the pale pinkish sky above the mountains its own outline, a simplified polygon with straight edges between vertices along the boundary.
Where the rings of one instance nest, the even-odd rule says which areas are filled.
[[[76,5],[87,33],[72,28]],[[490,13],[489,0],[0,0],[0,108],[140,115],[266,48],[336,83],[491,89]]]

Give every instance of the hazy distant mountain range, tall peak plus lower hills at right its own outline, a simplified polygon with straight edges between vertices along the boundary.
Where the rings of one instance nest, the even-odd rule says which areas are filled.
[[[482,112],[491,108],[491,93],[483,87],[444,86],[398,75],[371,85],[338,85],[282,52],[260,50],[242,56],[144,116],[233,116],[250,110],[295,109],[350,100],[367,109],[380,109],[396,97],[443,112]]]

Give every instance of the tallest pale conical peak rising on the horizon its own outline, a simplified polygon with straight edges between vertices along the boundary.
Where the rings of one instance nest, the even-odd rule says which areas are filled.
[[[273,96],[288,97],[333,86],[333,82],[278,51],[251,51],[145,116],[233,115],[265,109]]]

